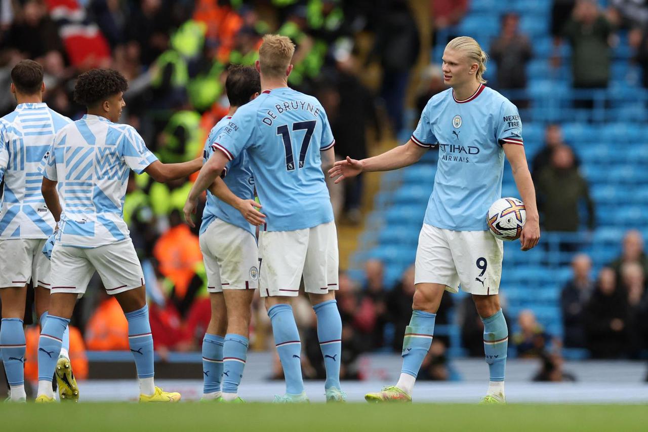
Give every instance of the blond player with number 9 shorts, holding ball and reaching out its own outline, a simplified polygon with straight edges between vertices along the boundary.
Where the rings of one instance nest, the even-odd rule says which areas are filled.
[[[485,403],[503,403],[508,331],[498,290],[502,241],[488,232],[486,214],[502,193],[504,156],[526,205],[522,250],[540,238],[535,191],[514,104],[484,86],[487,55],[476,40],[459,37],[443,52],[443,79],[450,89],[434,95],[405,144],[364,160],[336,162],[329,174],[340,182],[363,171],[389,171],[411,165],[439,147],[434,190],[428,202],[415,262],[415,294],[403,340],[403,366],[396,385],[369,393],[369,402],[411,401],[414,381],[430,349],[435,313],[444,291],[472,294],[484,323],[484,352],[490,385]]]

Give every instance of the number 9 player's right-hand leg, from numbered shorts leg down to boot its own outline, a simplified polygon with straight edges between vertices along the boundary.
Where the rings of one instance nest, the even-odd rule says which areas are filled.
[[[502,241],[488,231],[448,232],[461,289],[472,294],[484,324],[484,353],[490,384],[482,402],[503,403],[509,331],[498,292],[502,276]]]

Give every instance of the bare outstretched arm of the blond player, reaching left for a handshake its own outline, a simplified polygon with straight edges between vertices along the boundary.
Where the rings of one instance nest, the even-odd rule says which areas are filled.
[[[410,139],[405,145],[399,145],[373,158],[355,160],[347,156],[346,160],[336,162],[329,169],[329,176],[339,183],[344,178],[354,177],[365,171],[391,171],[419,162],[428,147],[421,147]]]

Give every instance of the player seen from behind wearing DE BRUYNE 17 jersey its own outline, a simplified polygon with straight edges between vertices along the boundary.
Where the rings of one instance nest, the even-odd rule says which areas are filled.
[[[255,66],[259,97],[238,108],[214,140],[219,150],[200,170],[185,204],[185,216],[198,195],[246,150],[263,212],[259,233],[259,289],[272,322],[275,345],[286,378],[286,394],[275,402],[307,402],[301,377],[301,341],[290,298],[305,291],[318,318],[328,401],[341,401],[341,319],[338,289],[338,237],[322,160],[332,165],[329,120],[314,97],[288,88],[295,45],[285,36],[266,35]]]

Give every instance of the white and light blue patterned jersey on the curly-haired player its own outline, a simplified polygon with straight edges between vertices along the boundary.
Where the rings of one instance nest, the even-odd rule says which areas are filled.
[[[133,126],[84,115],[62,128],[40,165],[43,176],[58,182],[63,212],[56,243],[96,248],[127,239],[128,173],[141,174],[156,160]]]

